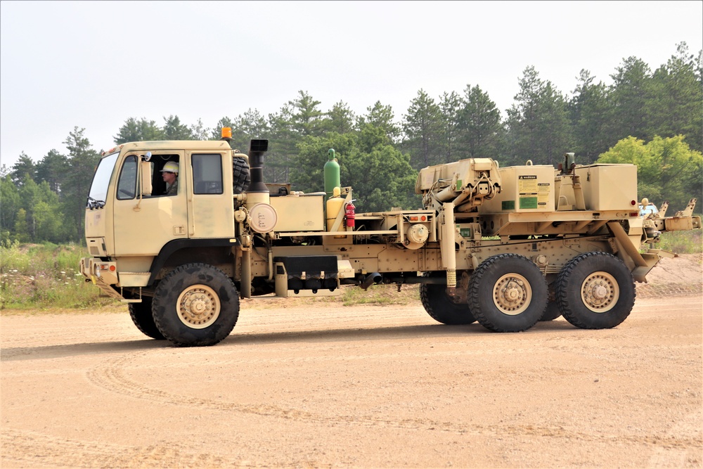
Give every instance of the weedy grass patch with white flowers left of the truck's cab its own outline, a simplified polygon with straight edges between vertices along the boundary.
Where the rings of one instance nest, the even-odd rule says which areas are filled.
[[[78,271],[88,252],[77,245],[0,245],[0,310],[103,309],[116,304]]]

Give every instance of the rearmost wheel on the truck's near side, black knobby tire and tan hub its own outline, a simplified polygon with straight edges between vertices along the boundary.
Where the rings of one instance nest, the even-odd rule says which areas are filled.
[[[562,316],[582,329],[614,328],[635,305],[630,270],[607,252],[571,259],[560,271],[555,290]]]

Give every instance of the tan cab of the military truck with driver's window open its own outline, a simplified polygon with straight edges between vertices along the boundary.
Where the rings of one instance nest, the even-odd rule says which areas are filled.
[[[177,262],[187,261],[189,246],[199,248],[193,260],[202,259],[201,248],[209,246],[223,264],[236,243],[229,188],[242,184],[233,181],[233,160],[245,165],[247,156],[227,141],[135,142],[105,152],[86,203],[86,244],[93,258],[84,269],[93,282],[129,300],[120,289],[153,283],[155,262],[176,262],[169,259],[176,252]],[[162,176],[167,164],[178,168],[171,195]]]

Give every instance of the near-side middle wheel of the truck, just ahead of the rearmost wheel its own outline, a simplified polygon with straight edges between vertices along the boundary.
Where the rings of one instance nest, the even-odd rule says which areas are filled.
[[[489,257],[469,281],[469,308],[482,326],[495,332],[531,328],[542,317],[547,299],[541,271],[521,255]]]

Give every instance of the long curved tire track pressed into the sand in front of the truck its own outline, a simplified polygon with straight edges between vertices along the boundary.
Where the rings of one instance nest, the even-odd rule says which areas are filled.
[[[458,353],[458,352],[457,352]],[[389,354],[405,355],[405,354]],[[376,356],[378,357],[378,356]],[[316,423],[329,426],[359,425],[362,427],[399,428],[404,430],[435,430],[463,435],[482,437],[557,437],[591,442],[626,442],[664,448],[703,449],[703,442],[695,437],[677,435],[606,435],[574,432],[561,425],[469,425],[453,422],[440,422],[429,418],[392,419],[376,416],[330,416],[299,409],[286,409],[271,404],[238,404],[217,399],[188,397],[153,389],[136,383],[124,375],[124,368],[132,363],[134,356],[120,356],[107,359],[86,372],[86,378],[97,387],[136,399],[156,401],[160,404],[209,409],[214,411],[236,411],[265,418],[280,418],[302,423]]]

